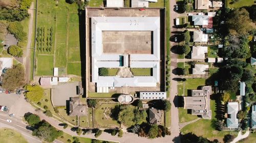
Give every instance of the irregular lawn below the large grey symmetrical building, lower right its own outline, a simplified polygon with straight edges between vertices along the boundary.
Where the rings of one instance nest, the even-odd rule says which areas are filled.
[[[214,123],[217,121],[216,116],[216,102],[215,100],[210,100],[210,108],[211,108],[211,120],[200,119],[195,123],[191,123],[184,128],[181,129],[183,134],[192,132],[198,136],[206,137],[210,140],[218,139],[219,141],[223,140],[225,134],[229,134],[230,132],[235,131],[218,131],[214,128]]]

